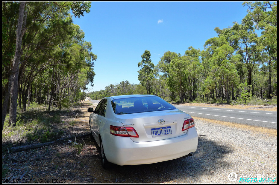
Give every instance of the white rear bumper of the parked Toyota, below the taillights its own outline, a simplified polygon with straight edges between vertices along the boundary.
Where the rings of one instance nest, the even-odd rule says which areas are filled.
[[[168,161],[195,152],[198,147],[195,127],[185,135],[159,141],[133,142],[129,137],[113,137],[113,142],[103,141],[104,152],[109,162],[118,165]]]

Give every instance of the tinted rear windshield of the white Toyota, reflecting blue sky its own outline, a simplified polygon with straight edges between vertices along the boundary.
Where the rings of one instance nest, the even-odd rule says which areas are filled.
[[[121,98],[111,101],[116,114],[132,114],[160,110],[174,110],[174,106],[157,96]]]

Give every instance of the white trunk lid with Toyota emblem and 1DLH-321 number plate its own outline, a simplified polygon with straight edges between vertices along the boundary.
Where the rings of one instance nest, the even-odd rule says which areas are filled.
[[[116,115],[115,120],[122,122],[124,127],[133,127],[136,130],[139,137],[131,137],[132,141],[147,142],[186,134],[187,130],[181,130],[184,120],[189,117],[188,114],[175,109]]]

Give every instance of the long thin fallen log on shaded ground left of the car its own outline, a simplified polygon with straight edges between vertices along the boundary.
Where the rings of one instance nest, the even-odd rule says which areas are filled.
[[[66,137],[66,138],[60,138],[57,139],[55,141],[50,141],[47,143],[38,143],[38,144],[29,144],[29,145],[24,145],[24,146],[18,146],[18,147],[11,147],[10,148],[10,152],[20,152],[20,151],[24,151],[24,150],[28,150],[28,149],[35,149],[35,148],[40,148],[40,147],[45,147],[45,146],[49,146],[51,144],[55,144],[58,143],[60,141],[64,141],[64,140],[68,140],[68,139],[73,139],[76,137],[76,133],[72,133],[75,134],[74,136],[70,136],[70,137]],[[64,135],[64,134],[62,134]],[[90,135],[90,133],[88,134],[84,134],[84,135],[79,135],[81,138]]]

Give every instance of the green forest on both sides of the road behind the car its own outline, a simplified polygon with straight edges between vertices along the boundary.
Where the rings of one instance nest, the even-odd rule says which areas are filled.
[[[17,112],[32,103],[50,112],[78,105],[86,96],[153,94],[167,101],[213,103],[276,99],[277,2],[243,6],[248,11],[242,22],[216,27],[216,37],[206,40],[203,50],[165,51],[156,66],[145,50],[135,74],[140,84],[126,80],[88,92],[97,55],[72,15],[88,13],[91,2],[3,1],[2,129],[5,119],[16,124]]]

